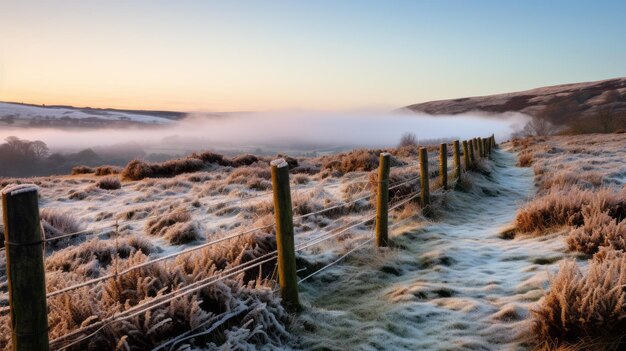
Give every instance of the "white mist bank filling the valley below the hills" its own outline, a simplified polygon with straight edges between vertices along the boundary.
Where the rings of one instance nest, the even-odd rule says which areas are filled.
[[[395,146],[402,134],[414,133],[419,140],[470,138],[492,133],[502,140],[519,130],[528,117],[506,114],[427,116],[416,114],[278,112],[243,113],[227,117],[191,114],[160,128],[125,129],[0,129],[0,139],[17,136],[42,140],[53,149],[81,149],[138,143],[210,149],[218,145],[314,144],[332,146]]]

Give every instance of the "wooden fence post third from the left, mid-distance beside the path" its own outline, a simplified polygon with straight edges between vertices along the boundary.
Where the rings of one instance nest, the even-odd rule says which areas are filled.
[[[378,194],[376,194],[376,246],[387,246],[389,241],[389,160],[390,154],[380,154],[378,162]]]

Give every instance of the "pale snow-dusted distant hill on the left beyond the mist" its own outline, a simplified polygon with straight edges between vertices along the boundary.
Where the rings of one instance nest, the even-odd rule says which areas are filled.
[[[184,112],[117,110],[73,106],[46,106],[0,102],[0,126],[110,127],[120,125],[167,125],[182,119]]]

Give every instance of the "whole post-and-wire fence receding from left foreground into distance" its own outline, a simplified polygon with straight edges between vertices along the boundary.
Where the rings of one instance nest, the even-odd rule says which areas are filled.
[[[462,145],[462,150],[461,150]],[[493,135],[489,138],[474,138],[464,140],[462,143],[458,140],[452,144],[452,179],[458,181],[463,170],[471,169],[479,158],[489,157],[492,149],[496,146]],[[447,190],[450,188],[450,172],[448,171],[448,144],[441,144],[439,148],[439,181],[441,188]],[[463,164],[461,162],[463,159]],[[428,151],[422,147],[419,149],[419,169],[420,174],[390,183],[391,156],[389,153],[381,153],[378,166],[378,179],[376,191],[376,209],[375,213],[361,216],[359,219],[348,223],[347,225],[323,232],[321,235],[313,237],[307,241],[300,242],[296,245],[294,240],[294,221],[302,220],[310,216],[319,215],[325,212],[333,211],[340,208],[356,204],[358,201],[369,198],[371,195],[345,201],[340,204],[325,207],[319,211],[313,211],[306,214],[294,216],[292,207],[292,189],[289,181],[288,164],[282,160],[271,162],[271,178],[272,191],[262,192],[248,199],[273,195],[274,207],[274,223],[266,226],[260,226],[243,230],[238,233],[223,236],[221,238],[196,245],[182,251],[153,258],[141,264],[128,267],[122,271],[118,271],[117,265],[115,272],[93,278],[79,284],[68,286],[66,288],[46,292],[45,285],[45,269],[44,269],[44,250],[42,247],[47,243],[58,240],[71,239],[80,236],[93,236],[102,233],[115,235],[116,243],[119,231],[119,222],[113,226],[103,227],[99,229],[90,229],[74,233],[64,233],[50,238],[44,238],[41,220],[39,218],[38,194],[37,188],[33,185],[17,185],[7,187],[2,190],[2,204],[4,217],[4,246],[1,249],[5,251],[7,261],[7,279],[9,287],[8,308],[0,308],[0,313],[9,311],[11,317],[12,343],[14,350],[48,350],[66,349],[96,335],[106,326],[128,320],[134,316],[138,316],[146,311],[163,306],[174,299],[194,293],[219,281],[229,277],[240,275],[248,270],[261,267],[264,264],[277,261],[278,284],[280,295],[284,306],[291,311],[301,309],[298,297],[298,285],[303,281],[313,277],[325,269],[337,264],[342,259],[353,252],[364,247],[368,243],[375,241],[376,246],[384,247],[389,245],[389,229],[393,226],[389,225],[389,213],[398,209],[407,203],[420,199],[423,209],[430,206],[430,173],[428,167]],[[398,189],[407,184],[413,184],[419,181],[419,190],[412,191],[402,196],[395,203],[390,203],[389,193],[394,189]],[[237,202],[241,200],[234,200]],[[227,204],[228,202],[222,203]],[[142,218],[147,220],[148,218]],[[302,279],[298,279],[296,268],[296,253],[318,245],[326,240],[336,238],[356,227],[364,224],[375,222],[375,237],[365,238],[358,245],[347,251],[345,254],[337,258],[335,261],[311,272]],[[401,223],[396,223],[398,225]],[[138,269],[153,265],[158,262],[173,259],[175,257],[185,255],[202,248],[211,247],[227,240],[242,237],[247,234],[275,228],[277,249],[273,252],[266,253],[260,257],[256,257],[250,261],[238,264],[234,267],[225,268],[216,274],[207,278],[195,281],[186,286],[179,287],[168,293],[158,295],[151,300],[139,303],[124,311],[114,313],[113,315],[95,321],[89,325],[77,328],[56,339],[48,338],[48,316],[47,316],[47,299],[76,290],[82,287],[95,285],[108,279],[117,279],[125,274],[136,271]],[[2,244],[0,242],[0,244]],[[116,259],[117,260],[117,259]],[[117,264],[117,262],[116,262]],[[210,322],[223,323],[222,319],[211,319]],[[221,320],[221,322],[220,322]],[[203,326],[198,326],[197,330]],[[183,338],[189,337],[194,330],[186,333],[186,335],[175,340],[168,341],[162,347],[168,344],[179,342]],[[191,335],[193,337],[193,335]]]

